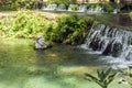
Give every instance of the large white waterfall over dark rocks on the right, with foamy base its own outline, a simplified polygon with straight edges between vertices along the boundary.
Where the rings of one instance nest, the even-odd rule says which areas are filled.
[[[97,24],[91,28],[82,47],[99,52],[101,59],[117,67],[127,67],[132,64],[132,32],[107,24]]]

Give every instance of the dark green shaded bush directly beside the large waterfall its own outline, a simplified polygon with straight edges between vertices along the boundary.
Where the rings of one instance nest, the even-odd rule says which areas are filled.
[[[88,34],[94,19],[67,15],[57,20],[57,28],[47,31],[48,40],[59,43],[80,44]]]

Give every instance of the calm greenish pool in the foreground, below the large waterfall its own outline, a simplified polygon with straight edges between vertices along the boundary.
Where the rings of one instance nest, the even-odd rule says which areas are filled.
[[[99,88],[84,79],[103,67],[98,55],[66,45],[34,51],[31,43],[0,41],[0,88]]]

